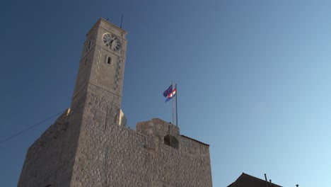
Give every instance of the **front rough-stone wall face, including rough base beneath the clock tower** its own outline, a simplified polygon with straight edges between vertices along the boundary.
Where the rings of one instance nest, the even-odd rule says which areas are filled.
[[[89,90],[71,186],[212,186],[209,145],[159,119],[122,127],[116,96]]]

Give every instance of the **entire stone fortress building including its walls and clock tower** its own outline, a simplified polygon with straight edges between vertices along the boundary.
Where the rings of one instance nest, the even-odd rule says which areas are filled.
[[[126,34],[103,18],[88,32],[71,108],[28,149],[18,186],[212,186],[209,145],[158,118],[120,125]]]

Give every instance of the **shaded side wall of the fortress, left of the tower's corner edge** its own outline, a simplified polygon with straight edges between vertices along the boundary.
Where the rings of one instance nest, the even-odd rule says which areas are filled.
[[[18,187],[69,186],[82,114],[67,112],[28,149]]]

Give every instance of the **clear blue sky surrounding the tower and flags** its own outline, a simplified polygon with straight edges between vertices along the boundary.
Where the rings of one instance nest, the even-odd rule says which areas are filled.
[[[4,1],[0,140],[68,108],[98,18],[128,31],[128,124],[171,120],[210,145],[214,186],[242,172],[281,186],[331,183],[331,1]],[[0,145],[0,186],[54,119]]]

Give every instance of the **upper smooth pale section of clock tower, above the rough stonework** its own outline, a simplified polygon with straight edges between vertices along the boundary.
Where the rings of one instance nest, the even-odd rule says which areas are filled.
[[[107,93],[103,103],[120,108],[124,64],[127,49],[127,32],[103,18],[95,23],[86,35],[79,72],[71,102],[74,109],[87,93],[102,90]],[[103,106],[105,107],[105,106]]]

